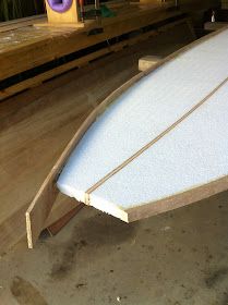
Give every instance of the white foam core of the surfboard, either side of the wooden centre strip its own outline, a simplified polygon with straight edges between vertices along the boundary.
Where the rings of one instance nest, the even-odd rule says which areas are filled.
[[[218,86],[228,76],[227,58],[228,29],[143,77],[86,132],[58,180],[59,190],[84,200],[91,186]],[[227,118],[226,85],[92,198],[125,209],[228,174]]]

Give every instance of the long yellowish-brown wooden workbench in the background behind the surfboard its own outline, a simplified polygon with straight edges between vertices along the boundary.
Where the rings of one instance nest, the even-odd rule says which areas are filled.
[[[31,19],[23,21],[23,24],[14,22],[12,29],[10,24],[1,26],[0,99],[84,65],[98,57],[118,51],[128,44],[131,45],[142,38],[147,39],[156,32],[153,25],[164,21],[169,23],[182,16],[177,10],[168,10],[167,4],[139,5],[134,3],[120,9],[116,8],[115,11],[117,16],[104,19],[101,22],[104,32],[97,35],[87,35],[91,26],[77,29],[32,26]],[[34,23],[45,21],[46,17],[41,16],[36,17]],[[131,35],[135,30],[140,30],[142,35],[128,38],[128,41],[118,40],[123,34]],[[113,41],[110,44],[111,38],[116,38],[115,44]],[[91,50],[91,47],[95,49]],[[65,62],[65,56],[69,54],[72,58]],[[62,61],[61,65],[56,62],[57,59]],[[48,70],[47,66],[43,69],[44,64],[53,62],[57,65],[51,65]],[[41,70],[33,74],[34,69],[38,66],[41,66]],[[31,71],[33,71],[32,75]],[[16,82],[13,78],[15,76]]]

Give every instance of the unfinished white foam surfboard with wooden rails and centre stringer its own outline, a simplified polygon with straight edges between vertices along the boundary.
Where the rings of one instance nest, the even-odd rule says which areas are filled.
[[[95,109],[26,213],[28,246],[38,206],[47,205],[41,220],[59,191],[131,222],[227,190],[227,56],[225,28],[137,74]]]

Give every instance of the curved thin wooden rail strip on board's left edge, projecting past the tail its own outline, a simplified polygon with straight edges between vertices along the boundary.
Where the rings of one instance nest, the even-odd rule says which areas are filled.
[[[118,88],[116,91],[113,91],[107,99],[103,101],[101,105],[99,105],[92,113],[91,115],[85,120],[83,125],[80,127],[80,130],[75,133],[72,141],[67,146],[65,150],[61,155],[60,159],[56,163],[56,166],[50,171],[49,175],[43,183],[39,192],[37,193],[36,197],[34,198],[33,203],[31,204],[28,210],[26,211],[26,225],[27,225],[27,240],[28,240],[28,247],[32,248],[38,239],[38,235],[41,231],[41,228],[44,227],[44,223],[46,221],[46,218],[48,217],[48,213],[55,203],[55,198],[58,194],[58,190],[56,187],[56,181],[58,179],[58,175],[64,166],[64,162],[67,161],[68,157],[70,156],[71,151],[74,149],[79,141],[82,138],[86,130],[91,126],[91,124],[96,120],[97,115],[99,115],[109,103],[111,103],[118,96],[120,96],[124,90],[127,90],[131,85],[133,85],[135,82],[144,77],[144,75],[147,75],[158,66],[163,65],[167,61],[173,60],[177,56],[179,56],[181,52],[187,51],[188,49],[192,48],[193,46],[196,46],[197,44],[204,41],[205,39],[208,39],[209,37],[213,37],[215,34],[211,34],[207,37],[203,37],[199,39],[197,41],[192,42],[191,45],[182,48],[181,50],[172,53],[171,56],[167,57],[166,59],[161,60],[159,63],[157,63],[155,66],[148,69],[144,73],[141,72],[137,75],[135,75],[133,78],[131,78],[129,82],[127,82],[123,86]]]

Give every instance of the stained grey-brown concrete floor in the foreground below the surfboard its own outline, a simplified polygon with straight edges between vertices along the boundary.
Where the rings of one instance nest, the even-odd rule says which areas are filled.
[[[227,202],[131,224],[85,207],[34,251],[23,240],[0,256],[0,305],[228,304]]]

